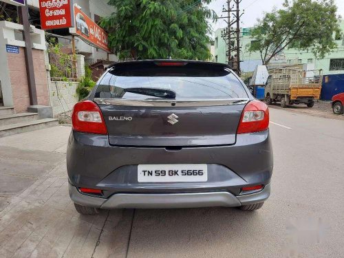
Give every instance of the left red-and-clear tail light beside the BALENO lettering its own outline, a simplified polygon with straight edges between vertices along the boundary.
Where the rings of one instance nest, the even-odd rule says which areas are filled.
[[[72,124],[75,131],[107,134],[102,112],[91,100],[85,100],[74,105]]]

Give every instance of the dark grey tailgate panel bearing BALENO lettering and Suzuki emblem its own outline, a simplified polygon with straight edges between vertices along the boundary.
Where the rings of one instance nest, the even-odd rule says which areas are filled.
[[[109,142],[130,146],[195,146],[234,144],[245,105],[213,107],[120,107],[99,105]],[[171,114],[178,121],[171,125]],[[130,117],[132,120],[110,120]]]

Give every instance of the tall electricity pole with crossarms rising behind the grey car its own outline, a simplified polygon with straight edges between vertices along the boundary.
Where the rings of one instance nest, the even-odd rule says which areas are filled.
[[[222,8],[222,12],[226,13],[222,19],[225,19],[227,23],[227,28],[222,31],[222,38],[227,45],[226,59],[228,65],[240,75],[240,17],[242,14],[240,14],[239,4],[241,0],[227,0],[226,3],[227,8]],[[236,25],[236,28],[233,28],[233,25]],[[232,56],[233,52],[236,53],[235,56]]]

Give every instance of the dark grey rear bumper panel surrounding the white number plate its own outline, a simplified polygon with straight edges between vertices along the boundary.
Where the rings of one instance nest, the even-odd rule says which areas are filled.
[[[138,164],[208,164],[208,182],[138,183]],[[187,147],[180,151],[149,147],[114,147],[107,136],[73,132],[67,149],[69,181],[78,187],[111,193],[175,193],[226,190],[268,184],[272,175],[272,148],[268,131],[237,136],[223,147]],[[100,187],[101,186],[101,187]]]

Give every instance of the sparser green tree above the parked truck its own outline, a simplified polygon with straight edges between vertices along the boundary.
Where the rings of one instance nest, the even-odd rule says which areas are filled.
[[[266,65],[286,47],[310,50],[323,58],[336,47],[341,33],[334,0],[286,0],[283,9],[267,12],[251,30],[249,52],[259,52]]]

